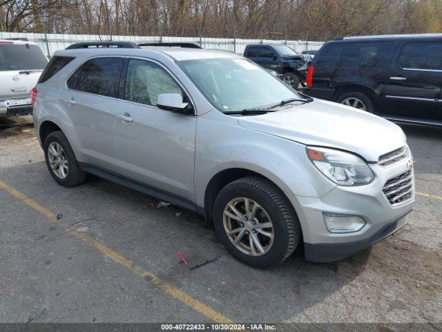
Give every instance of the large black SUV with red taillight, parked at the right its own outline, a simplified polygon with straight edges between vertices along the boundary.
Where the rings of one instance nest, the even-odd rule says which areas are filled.
[[[306,83],[312,97],[442,126],[442,34],[336,39],[311,61]]]

